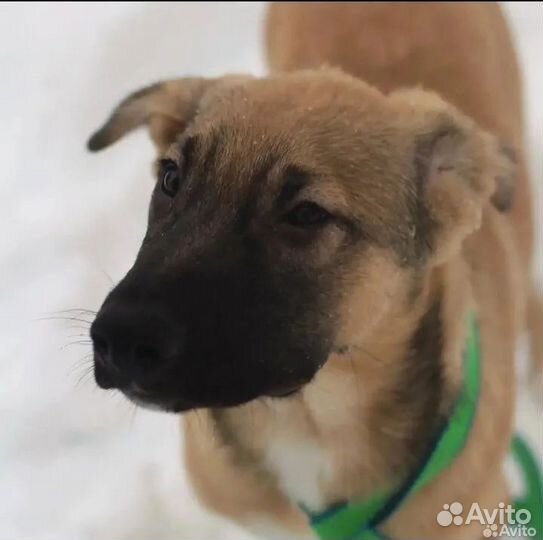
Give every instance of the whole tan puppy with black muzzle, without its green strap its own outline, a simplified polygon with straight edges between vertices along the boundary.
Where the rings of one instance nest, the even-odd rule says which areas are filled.
[[[532,220],[515,55],[495,4],[272,5],[272,74],[155,84],[93,135],[147,126],[158,151],[147,234],[91,329],[95,376],[184,414],[213,511],[265,538],[401,485],[464,385],[468,441],[380,525],[476,539],[447,502],[497,508],[514,351],[533,327]],[[323,67],[327,65],[328,67]]]

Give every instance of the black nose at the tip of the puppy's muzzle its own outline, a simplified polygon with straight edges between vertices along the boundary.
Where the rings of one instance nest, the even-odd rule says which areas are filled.
[[[90,331],[98,386],[145,389],[168,377],[182,353],[184,332],[154,311],[113,304],[98,313]]]

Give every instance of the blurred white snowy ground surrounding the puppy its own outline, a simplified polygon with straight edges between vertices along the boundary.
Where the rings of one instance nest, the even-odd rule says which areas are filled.
[[[541,150],[543,6],[507,11]],[[92,376],[78,384],[88,348],[66,344],[84,330],[39,319],[96,309],[144,231],[145,134],[92,156],[89,133],[155,80],[262,73],[261,16],[244,2],[0,5],[0,540],[248,538],[194,502],[175,418],[134,414]],[[539,187],[540,208],[542,197]],[[524,401],[521,419],[543,447]]]

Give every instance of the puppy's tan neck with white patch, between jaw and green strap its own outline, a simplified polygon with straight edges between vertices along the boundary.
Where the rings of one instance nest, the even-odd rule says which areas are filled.
[[[462,263],[436,270],[409,316],[384,316],[371,340],[342,347],[298,395],[214,411],[224,442],[312,511],[403,481],[461,386],[462,272]]]

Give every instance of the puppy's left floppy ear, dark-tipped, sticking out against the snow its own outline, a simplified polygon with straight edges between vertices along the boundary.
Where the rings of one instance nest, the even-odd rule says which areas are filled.
[[[205,91],[215,82],[216,79],[186,78],[156,83],[130,94],[92,135],[88,149],[102,150],[130,131],[147,125],[155,145],[164,150],[186,128]]]

